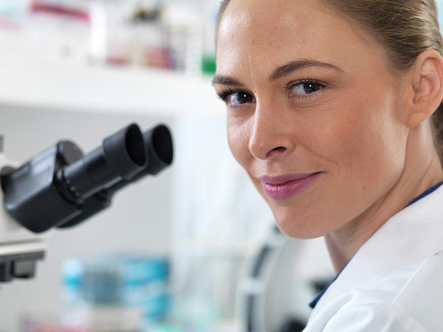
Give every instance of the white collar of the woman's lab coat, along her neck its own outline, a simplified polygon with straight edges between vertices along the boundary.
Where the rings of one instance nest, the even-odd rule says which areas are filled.
[[[371,285],[443,248],[443,186],[419,198],[388,219],[363,244],[318,300],[310,320],[340,295]]]

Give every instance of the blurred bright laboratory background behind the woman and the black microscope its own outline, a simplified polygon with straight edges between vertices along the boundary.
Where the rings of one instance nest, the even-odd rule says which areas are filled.
[[[334,272],[297,241],[226,141],[211,86],[220,0],[0,0],[0,136],[22,164],[159,123],[174,161],[79,226],[49,232],[31,280],[0,289],[2,332],[293,332]]]

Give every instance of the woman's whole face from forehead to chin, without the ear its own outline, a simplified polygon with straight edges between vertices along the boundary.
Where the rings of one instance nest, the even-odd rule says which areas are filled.
[[[231,0],[214,86],[232,154],[289,236],[340,229],[400,178],[405,89],[381,47],[317,1]]]

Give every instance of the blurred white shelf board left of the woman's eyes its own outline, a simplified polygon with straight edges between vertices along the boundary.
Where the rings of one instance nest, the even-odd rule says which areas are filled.
[[[0,105],[155,116],[222,114],[211,77],[0,56]]]

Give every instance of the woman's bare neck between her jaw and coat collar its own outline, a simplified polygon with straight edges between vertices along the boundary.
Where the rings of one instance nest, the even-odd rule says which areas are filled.
[[[416,129],[423,131],[424,129]],[[326,245],[336,271],[340,271],[360,247],[393,215],[405,208],[415,197],[443,180],[443,169],[426,131],[416,133],[421,144],[408,142],[404,171],[395,186],[358,217],[344,227],[325,235]],[[415,138],[417,138],[415,137]],[[431,137],[431,141],[429,141]]]

